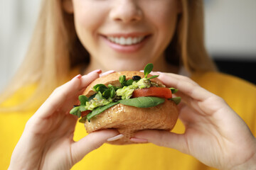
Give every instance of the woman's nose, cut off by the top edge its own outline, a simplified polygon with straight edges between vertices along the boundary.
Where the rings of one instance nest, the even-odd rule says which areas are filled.
[[[137,0],[117,0],[110,11],[110,18],[114,21],[130,23],[142,19],[142,9],[137,4]]]

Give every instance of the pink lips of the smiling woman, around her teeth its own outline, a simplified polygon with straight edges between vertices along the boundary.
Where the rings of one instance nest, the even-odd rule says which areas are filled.
[[[120,37],[134,38],[139,36],[145,36],[145,38],[141,42],[134,45],[119,45],[108,40],[107,37],[110,37],[110,36],[117,37],[117,38],[120,38]],[[146,42],[151,38],[151,34],[149,33],[111,33],[107,35],[100,35],[100,38],[102,38],[110,48],[112,48],[117,52],[132,53],[132,52],[139,51],[146,44]]]

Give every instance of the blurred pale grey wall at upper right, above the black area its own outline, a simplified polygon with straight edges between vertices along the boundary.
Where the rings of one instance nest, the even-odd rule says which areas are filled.
[[[207,0],[205,15],[210,55],[256,61],[255,0]]]

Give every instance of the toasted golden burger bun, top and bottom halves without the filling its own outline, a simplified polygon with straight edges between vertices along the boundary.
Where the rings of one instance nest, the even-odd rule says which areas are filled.
[[[89,97],[95,94],[95,91],[92,91],[92,87],[96,84],[121,86],[119,84],[119,76],[121,75],[125,75],[127,79],[132,79],[136,75],[144,77],[142,72],[116,72],[108,74],[105,77],[92,81],[90,86],[87,86],[84,95]],[[151,75],[148,77],[151,77]],[[163,85],[157,78],[151,79],[151,81]],[[134,143],[129,140],[134,136],[134,132],[145,129],[172,130],[177,119],[178,108],[173,101],[166,100],[164,103],[150,108],[137,108],[119,103],[96,115],[90,122],[86,120],[85,129],[88,133],[108,128],[117,129],[124,137],[109,143],[113,145],[127,145]]]

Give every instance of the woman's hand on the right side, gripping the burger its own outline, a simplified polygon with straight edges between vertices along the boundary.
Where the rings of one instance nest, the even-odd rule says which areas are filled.
[[[187,77],[160,74],[159,79],[179,90],[179,119],[186,130],[183,134],[143,130],[134,135],[134,142],[178,149],[218,169],[256,169],[255,137],[222,98]]]

